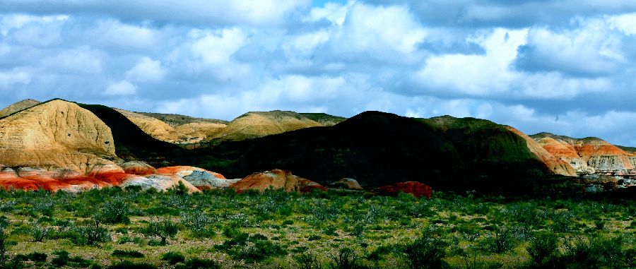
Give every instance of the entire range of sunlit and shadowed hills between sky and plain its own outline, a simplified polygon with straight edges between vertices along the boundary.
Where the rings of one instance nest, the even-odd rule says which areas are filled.
[[[483,119],[413,119],[384,112],[343,119],[273,111],[249,112],[227,124],[178,121],[173,115],[167,124],[98,104],[30,104],[13,105],[4,111],[16,112],[0,118],[1,186],[167,189],[182,182],[199,191],[285,169],[324,186],[348,178],[365,189],[419,181],[440,190],[525,193],[553,182],[546,179],[600,173],[628,180],[636,174],[635,154],[599,138],[526,136]],[[213,141],[209,147],[185,150],[174,141],[181,139],[179,132],[187,133],[179,126],[188,124],[223,126],[218,133],[201,134]]]

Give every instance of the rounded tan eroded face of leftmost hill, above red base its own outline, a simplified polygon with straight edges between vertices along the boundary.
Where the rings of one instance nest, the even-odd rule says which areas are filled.
[[[52,100],[0,119],[3,165],[88,172],[116,157],[110,128],[71,102]]]

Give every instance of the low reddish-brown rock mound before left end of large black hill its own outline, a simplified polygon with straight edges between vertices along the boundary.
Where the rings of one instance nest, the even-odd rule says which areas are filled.
[[[287,192],[295,191],[300,193],[307,193],[314,189],[326,191],[323,186],[314,181],[303,179],[302,177],[293,175],[289,171],[281,169],[250,174],[235,184],[230,185],[230,188],[235,189],[237,193],[242,193],[247,190],[265,191],[266,189],[283,189]]]

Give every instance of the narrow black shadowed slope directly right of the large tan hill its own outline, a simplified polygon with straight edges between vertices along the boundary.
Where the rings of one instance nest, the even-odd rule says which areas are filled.
[[[153,166],[167,165],[181,157],[186,150],[179,146],[158,141],[133,124],[121,113],[99,104],[79,104],[93,112],[110,127],[115,143],[115,152],[124,160],[144,160]]]

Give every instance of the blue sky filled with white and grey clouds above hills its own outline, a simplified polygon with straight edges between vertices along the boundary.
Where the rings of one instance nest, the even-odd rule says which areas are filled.
[[[0,0],[0,107],[472,116],[636,146],[636,1]]]

